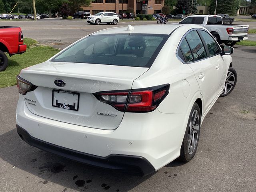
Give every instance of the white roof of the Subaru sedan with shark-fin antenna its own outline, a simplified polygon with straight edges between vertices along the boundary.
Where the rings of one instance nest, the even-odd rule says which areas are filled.
[[[99,35],[99,34],[124,34],[124,33],[131,33],[131,34],[170,34],[176,28],[179,28],[182,25],[139,25],[139,26],[132,26],[134,27],[133,30],[128,31],[128,26],[124,27],[114,27],[108,28],[104,30],[100,30],[95,32],[92,35]]]

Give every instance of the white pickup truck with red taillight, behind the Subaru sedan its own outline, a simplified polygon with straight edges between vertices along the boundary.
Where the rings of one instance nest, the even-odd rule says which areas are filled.
[[[236,42],[248,39],[248,25],[223,24],[218,15],[192,15],[184,18],[179,24],[197,24],[205,27],[219,44],[234,46]]]

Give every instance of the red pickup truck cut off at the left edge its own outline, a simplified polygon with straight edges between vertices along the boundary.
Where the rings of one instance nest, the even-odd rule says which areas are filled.
[[[8,66],[9,56],[26,52],[27,46],[23,44],[23,34],[20,27],[0,26],[0,71]]]

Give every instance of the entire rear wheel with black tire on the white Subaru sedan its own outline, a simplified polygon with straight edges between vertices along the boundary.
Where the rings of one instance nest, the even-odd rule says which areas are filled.
[[[194,125],[192,120],[194,120]],[[196,154],[196,149],[198,146],[199,136],[200,136],[200,127],[201,127],[201,112],[197,103],[194,103],[192,110],[189,115],[188,124],[186,132],[182,141],[180,148],[180,157],[179,160],[182,162],[189,162]],[[196,128],[196,129],[195,129]],[[193,135],[193,136],[192,136]],[[196,139],[195,147],[191,146],[194,144],[194,139]],[[192,145],[193,145],[192,144]],[[190,149],[192,148],[192,151]]]

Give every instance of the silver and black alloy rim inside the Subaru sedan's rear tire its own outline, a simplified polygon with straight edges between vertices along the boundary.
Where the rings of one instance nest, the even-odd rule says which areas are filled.
[[[188,154],[193,154],[198,143],[199,135],[199,114],[197,110],[192,113],[188,128]]]

